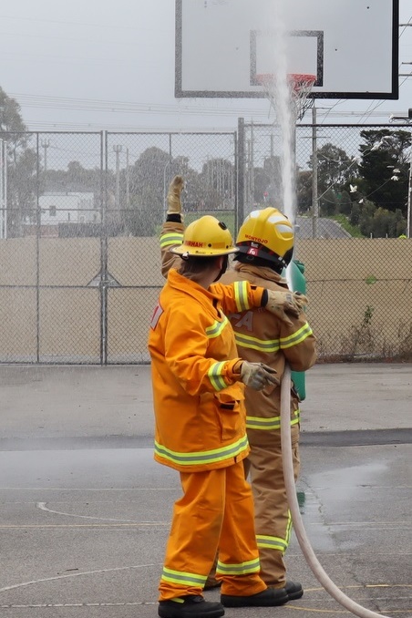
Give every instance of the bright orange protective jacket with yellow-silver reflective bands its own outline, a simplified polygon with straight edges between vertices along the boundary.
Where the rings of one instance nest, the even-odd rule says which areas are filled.
[[[160,463],[196,472],[248,455],[243,385],[233,372],[241,359],[226,314],[260,306],[263,293],[246,282],[206,290],[170,269],[149,331]]]

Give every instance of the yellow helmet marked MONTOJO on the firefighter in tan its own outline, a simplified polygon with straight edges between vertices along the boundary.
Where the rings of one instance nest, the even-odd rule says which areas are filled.
[[[275,208],[252,211],[242,223],[236,245],[251,258],[263,258],[285,268],[294,252],[294,227]]]

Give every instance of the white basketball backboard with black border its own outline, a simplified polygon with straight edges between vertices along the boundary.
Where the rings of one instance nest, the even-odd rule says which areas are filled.
[[[176,0],[175,96],[263,98],[256,76],[283,54],[288,73],[316,76],[311,98],[398,98],[398,4]]]

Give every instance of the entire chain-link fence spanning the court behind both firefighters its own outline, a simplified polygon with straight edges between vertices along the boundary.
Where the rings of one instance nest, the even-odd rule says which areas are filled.
[[[408,139],[407,127],[296,128],[296,257],[324,359],[412,354],[412,241],[396,237]],[[255,206],[282,208],[282,148],[273,125],[242,123],[225,133],[0,135],[0,362],[148,362],[171,178],[186,181],[185,221],[212,213],[235,234]],[[342,218],[377,225],[376,204],[388,231],[351,237]]]

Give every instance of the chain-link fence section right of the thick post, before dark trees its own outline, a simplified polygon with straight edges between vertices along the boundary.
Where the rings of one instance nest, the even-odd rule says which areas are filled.
[[[411,131],[298,125],[292,137],[295,257],[304,263],[321,358],[412,359]],[[240,123],[239,134],[239,208],[283,210],[281,130]],[[363,238],[352,236],[359,232]]]

